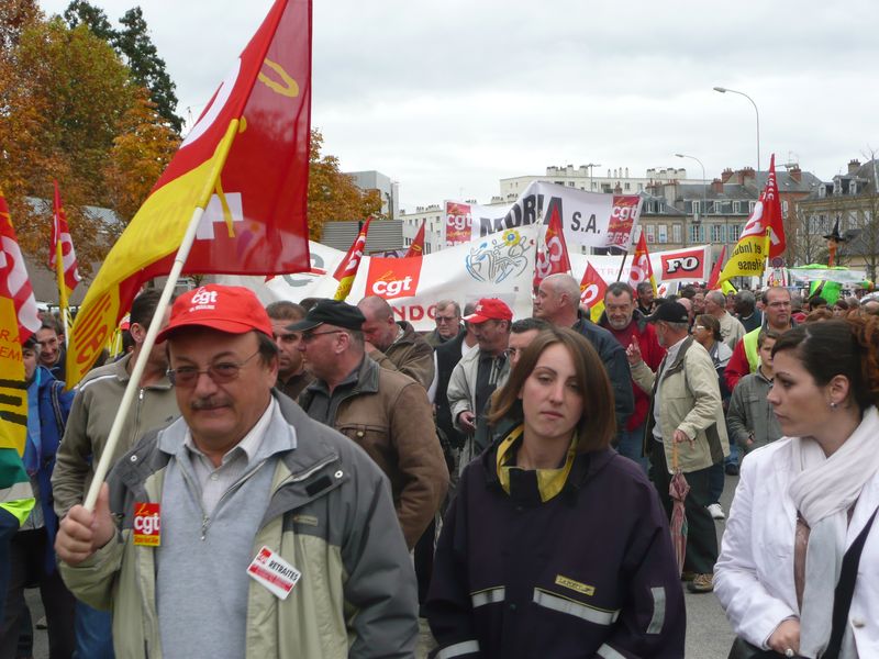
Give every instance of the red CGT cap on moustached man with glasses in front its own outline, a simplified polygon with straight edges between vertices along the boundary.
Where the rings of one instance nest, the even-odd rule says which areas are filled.
[[[170,322],[158,333],[156,342],[165,340],[183,327],[211,327],[226,334],[255,330],[271,336],[271,321],[254,292],[219,283],[202,286],[177,298]]]

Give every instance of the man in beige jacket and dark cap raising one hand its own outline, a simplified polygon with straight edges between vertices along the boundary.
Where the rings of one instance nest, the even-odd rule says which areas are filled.
[[[690,493],[685,500],[689,535],[685,573],[692,574],[691,592],[713,589],[717,537],[706,507],[710,501],[709,471],[730,454],[723,420],[717,372],[705,349],[688,334],[687,310],[679,302],[665,302],[648,316],[656,324],[666,358],[653,372],[641,358],[637,344],[626,350],[632,379],[650,393],[645,453],[650,457],[653,481],[669,516],[672,447],[686,474]]]

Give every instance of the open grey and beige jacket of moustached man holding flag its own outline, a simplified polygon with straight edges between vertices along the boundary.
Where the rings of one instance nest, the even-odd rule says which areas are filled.
[[[277,460],[253,555],[270,547],[303,578],[283,601],[251,585],[246,659],[412,657],[415,574],[387,478],[353,442],[309,418],[286,396],[276,398],[298,445]],[[135,546],[132,537],[134,503],[163,503],[170,456],[158,449],[157,438],[158,433],[144,437],[110,474],[116,539],[76,567],[60,563],[78,599],[113,611],[118,657],[163,656],[157,549]]]

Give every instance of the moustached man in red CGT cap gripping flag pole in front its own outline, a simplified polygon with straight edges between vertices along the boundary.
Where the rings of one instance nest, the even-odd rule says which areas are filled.
[[[182,417],[113,468],[56,549],[81,600],[113,612],[119,657],[411,657],[415,579],[369,457],[272,392],[271,322],[248,290],[175,302]]]

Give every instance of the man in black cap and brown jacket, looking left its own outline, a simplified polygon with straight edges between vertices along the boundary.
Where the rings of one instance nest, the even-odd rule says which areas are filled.
[[[299,404],[358,444],[381,468],[411,549],[439,509],[448,470],[424,387],[366,355],[363,324],[356,306],[321,300],[304,320],[287,327],[302,333],[300,349],[315,376]]]

